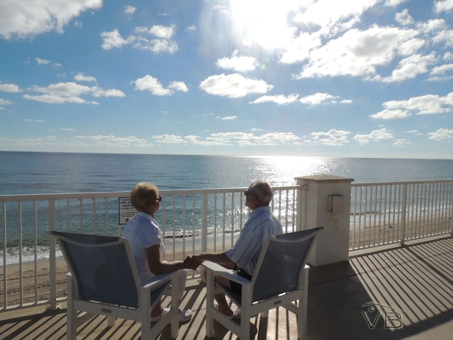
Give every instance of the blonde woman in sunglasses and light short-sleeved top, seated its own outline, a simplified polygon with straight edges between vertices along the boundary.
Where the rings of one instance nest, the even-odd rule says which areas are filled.
[[[148,182],[138,183],[130,193],[130,200],[137,214],[127,222],[123,237],[129,240],[140,282],[147,283],[154,275],[177,272],[179,279],[179,299],[183,297],[187,268],[196,269],[200,264],[196,259],[185,261],[162,261],[164,239],[159,222],[154,220],[154,213],[159,210],[162,196],[159,189]],[[162,308],[161,302],[151,310],[151,322],[157,322],[170,307]],[[180,310],[179,321],[186,322],[192,317],[191,310]]]

